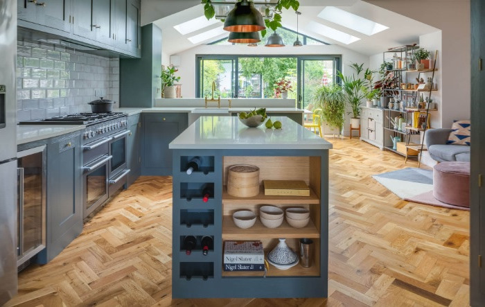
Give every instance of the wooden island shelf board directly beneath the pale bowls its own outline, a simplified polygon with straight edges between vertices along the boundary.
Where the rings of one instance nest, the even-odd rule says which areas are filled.
[[[303,228],[291,227],[285,218],[281,226],[267,228],[259,218],[253,227],[241,229],[234,224],[232,216],[224,216],[222,220],[222,239],[223,240],[248,240],[252,238],[261,240],[264,238],[320,238],[320,232],[310,218],[308,225]]]

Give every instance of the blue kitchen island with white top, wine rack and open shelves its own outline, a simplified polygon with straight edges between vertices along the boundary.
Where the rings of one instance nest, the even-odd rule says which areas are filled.
[[[332,144],[287,117],[279,120],[283,129],[247,128],[233,116],[203,116],[173,140],[173,298],[203,297],[326,297],[328,292],[328,150]],[[188,175],[187,163],[202,157],[200,168]],[[260,169],[260,182],[303,180],[310,196],[267,196],[263,186],[251,198],[227,193],[229,166],[250,164]],[[209,188],[209,200],[202,191]],[[256,224],[240,229],[233,223],[235,211],[258,214],[263,204],[281,209],[310,210],[306,227],[293,228],[283,220],[270,229],[256,218]],[[191,254],[184,249],[185,236],[195,236]],[[200,239],[211,236],[209,254],[202,254]],[[222,266],[225,240],[261,240],[265,255],[279,242],[299,251],[299,239],[313,241],[313,262],[288,270],[270,265],[264,272],[225,272]]]

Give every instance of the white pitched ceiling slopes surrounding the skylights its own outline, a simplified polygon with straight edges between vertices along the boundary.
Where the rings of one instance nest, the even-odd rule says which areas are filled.
[[[423,34],[436,32],[437,28],[423,24],[420,21],[410,19],[395,12],[385,10],[378,6],[366,3],[360,0],[301,0],[299,11],[301,16],[299,18],[299,31],[310,37],[315,37],[317,40],[344,46],[348,49],[356,51],[364,55],[373,55],[382,52],[392,46],[400,46],[403,44],[412,44],[418,42],[418,37]],[[326,6],[335,6],[346,12],[351,12],[360,17],[370,19],[378,24],[387,26],[387,30],[382,30],[373,35],[365,35],[357,30],[352,30],[346,26],[335,24],[326,19],[318,17],[321,10]],[[146,8],[145,8],[146,9]],[[174,26],[182,24],[185,21],[190,21],[197,17],[203,16],[203,6],[197,5],[185,10],[176,12],[154,23],[159,26],[163,33],[163,51],[168,55],[180,53],[184,50],[191,49],[200,44],[207,44],[214,40],[227,37],[227,33],[218,29],[222,28],[222,22],[210,24],[208,26],[201,26],[191,33],[186,35],[180,34],[175,30]],[[297,17],[293,10],[283,10],[283,26],[292,30],[297,30]],[[319,26],[321,25],[321,26]],[[330,38],[328,28],[344,32],[358,37],[360,40],[352,42],[351,44],[344,44],[337,42]],[[212,37],[204,39],[203,33],[213,33]],[[219,34],[220,33],[220,34]],[[188,40],[190,37],[197,35],[195,44]],[[355,40],[355,39],[354,39]],[[353,40],[352,40],[353,41]],[[303,47],[304,48],[304,47]]]

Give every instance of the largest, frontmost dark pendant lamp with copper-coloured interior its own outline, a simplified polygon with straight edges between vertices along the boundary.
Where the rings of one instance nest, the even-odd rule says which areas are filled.
[[[224,21],[224,30],[229,32],[257,32],[265,28],[263,15],[248,0],[236,3]]]

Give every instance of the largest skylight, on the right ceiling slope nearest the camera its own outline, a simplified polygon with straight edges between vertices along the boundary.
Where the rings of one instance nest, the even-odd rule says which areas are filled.
[[[372,20],[352,14],[351,12],[335,8],[335,6],[327,6],[321,10],[318,17],[365,35],[374,35],[389,28]]]

